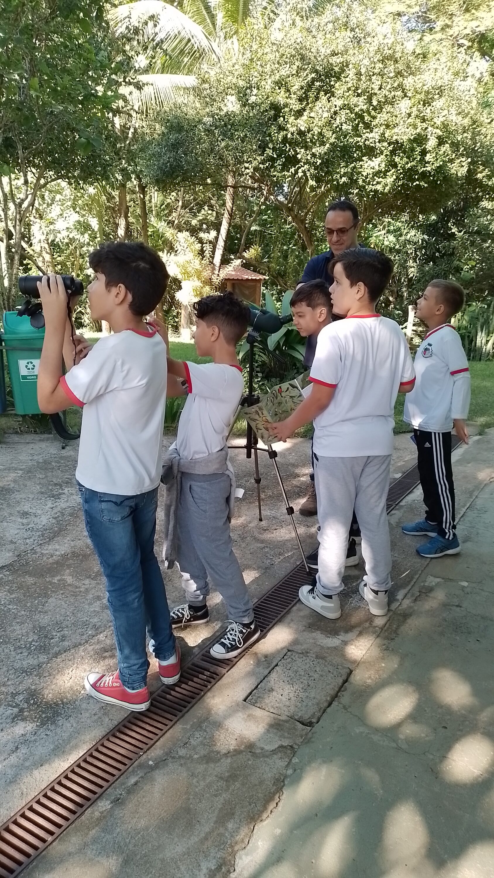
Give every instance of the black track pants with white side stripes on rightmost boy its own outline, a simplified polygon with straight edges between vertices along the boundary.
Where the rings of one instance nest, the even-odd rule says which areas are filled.
[[[426,521],[438,525],[438,533],[455,536],[455,485],[451,467],[451,433],[413,430],[419,452],[420,485],[426,504]]]

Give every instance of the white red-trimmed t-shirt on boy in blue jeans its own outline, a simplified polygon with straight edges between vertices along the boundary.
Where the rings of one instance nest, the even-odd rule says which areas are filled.
[[[167,349],[156,330],[125,329],[100,339],[61,385],[84,407],[77,481],[127,497],[158,486]]]

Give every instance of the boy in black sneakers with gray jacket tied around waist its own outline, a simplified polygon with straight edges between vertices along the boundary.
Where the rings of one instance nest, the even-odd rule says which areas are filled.
[[[164,558],[170,565],[176,554],[187,596],[187,603],[171,612],[174,627],[209,621],[206,597],[210,579],[226,602],[229,617],[226,634],[211,647],[211,655],[233,659],[261,634],[233,552],[230,517],[234,480],[226,448],[244,389],[236,345],[247,330],[248,308],[233,293],[224,293],[199,299],[194,311],[197,354],[211,356],[213,362],[181,363],[168,356],[168,373],[186,384],[188,396],[176,443],[163,468],[165,484],[175,477],[177,469],[181,476],[175,515],[176,553],[170,537]],[[174,395],[169,388],[168,395]]]

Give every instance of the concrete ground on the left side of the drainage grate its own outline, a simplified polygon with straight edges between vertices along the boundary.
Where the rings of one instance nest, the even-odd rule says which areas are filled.
[[[173,441],[165,439],[165,447]],[[412,443],[397,437],[394,471],[411,463]],[[241,440],[234,440],[240,444]],[[125,712],[88,698],[89,671],[115,669],[104,581],[82,523],[75,486],[77,444],[43,435],[6,435],[0,445],[0,824],[93,745]],[[268,456],[260,453],[263,521],[258,521],[254,460],[232,452],[245,496],[236,505],[233,542],[254,600],[297,563],[297,547]],[[296,507],[308,484],[310,443],[280,446],[279,465]],[[316,522],[297,515],[308,549]],[[161,515],[156,548],[161,554]],[[165,573],[168,601],[183,602],[177,572]],[[211,622],[181,638],[184,659],[226,619],[218,593]],[[149,682],[159,685],[153,661]]]

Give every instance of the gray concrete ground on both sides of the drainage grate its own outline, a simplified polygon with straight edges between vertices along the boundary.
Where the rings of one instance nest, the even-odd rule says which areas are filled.
[[[411,462],[410,440],[397,439],[396,474]],[[14,446],[11,462],[26,471],[28,456]],[[305,455],[306,443],[280,455],[297,502]],[[45,478],[56,483],[57,460],[47,458]],[[274,475],[263,462],[259,524],[251,464],[239,458],[248,493],[233,535],[256,598],[297,558]],[[364,606],[360,566],[346,578],[336,623],[297,605],[26,876],[491,878],[493,550],[484,531],[485,554],[475,540],[479,521],[492,526],[493,460],[494,432],[455,452],[459,511],[469,508],[461,556],[426,567],[401,534],[399,522],[420,512],[414,492],[390,516],[395,588],[386,618]],[[32,486],[42,493],[43,479]],[[13,489],[10,501],[22,505]],[[66,520],[60,513],[49,513],[46,531],[32,522],[25,555],[0,572],[5,817],[124,716],[82,695],[82,673],[93,661],[111,670],[113,647],[79,514],[75,506]],[[312,545],[314,523],[299,521]],[[176,580],[167,586],[170,602],[179,599]],[[223,617],[214,601],[208,630],[184,632],[185,654]]]

